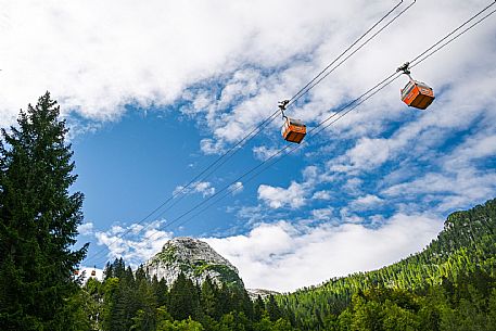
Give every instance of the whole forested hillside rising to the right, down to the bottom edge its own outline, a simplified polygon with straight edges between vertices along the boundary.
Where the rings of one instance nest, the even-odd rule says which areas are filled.
[[[496,199],[449,215],[422,252],[277,297],[301,330],[496,330]]]

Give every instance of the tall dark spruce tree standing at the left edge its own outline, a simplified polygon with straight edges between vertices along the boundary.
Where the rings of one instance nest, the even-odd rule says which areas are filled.
[[[87,245],[72,251],[84,195],[69,192],[77,176],[59,114],[47,92],[1,131],[0,330],[71,329],[73,271]]]

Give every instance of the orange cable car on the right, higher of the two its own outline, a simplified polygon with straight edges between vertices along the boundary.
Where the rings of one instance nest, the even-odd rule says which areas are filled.
[[[424,110],[434,101],[434,91],[425,82],[411,78],[407,62],[397,68],[397,72],[403,72],[409,78],[408,84],[400,90],[402,100],[408,106]]]

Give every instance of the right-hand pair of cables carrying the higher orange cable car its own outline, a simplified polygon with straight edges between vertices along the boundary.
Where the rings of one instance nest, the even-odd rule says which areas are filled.
[[[419,65],[420,63],[424,62],[427,59],[429,59],[430,56],[432,56],[434,53],[438,52],[440,50],[442,50],[443,48],[445,48],[447,44],[452,43],[454,40],[456,40],[457,38],[459,38],[460,36],[462,36],[463,34],[466,34],[468,30],[472,29],[474,26],[479,25],[481,22],[483,22],[484,20],[486,20],[487,17],[489,17],[491,15],[493,15],[496,10],[493,10],[491,11],[489,13],[487,13],[486,15],[484,15],[483,17],[481,17],[480,20],[475,21],[473,24],[469,25],[468,27],[466,27],[465,29],[462,29],[466,25],[468,25],[470,22],[474,21],[478,16],[482,15],[485,11],[487,11],[491,7],[493,7],[494,4],[496,3],[496,1],[494,1],[492,4],[487,5],[485,9],[483,9],[482,11],[480,11],[479,13],[476,13],[475,15],[473,15],[471,18],[469,18],[468,21],[466,21],[463,24],[461,24],[460,26],[458,26],[456,29],[452,30],[448,35],[446,35],[444,38],[440,39],[438,41],[436,41],[433,46],[431,46],[430,48],[428,48],[425,51],[423,51],[422,53],[420,53],[419,55],[417,55],[414,60],[411,60],[409,63],[411,64],[410,67],[415,67],[417,65]],[[457,31],[461,30],[460,33],[458,33],[457,35],[455,35]],[[454,36],[455,35],[455,36]],[[453,36],[453,37],[452,37]],[[449,38],[452,37],[452,38]],[[449,38],[449,39],[448,39]],[[443,43],[443,41],[447,40],[446,42]],[[441,44],[442,43],[442,44]],[[441,46],[440,46],[441,44]],[[317,135],[319,135],[320,132],[322,132],[325,129],[327,129],[328,127],[330,127],[331,125],[333,125],[334,123],[336,123],[339,119],[341,119],[342,117],[344,117],[345,115],[347,115],[349,112],[352,112],[353,110],[355,110],[356,107],[358,107],[360,104],[363,104],[364,102],[366,102],[367,100],[369,100],[370,98],[372,98],[373,96],[376,96],[377,93],[379,93],[380,91],[382,91],[384,88],[386,88],[387,86],[390,86],[392,82],[394,82],[396,79],[398,79],[399,77],[402,76],[400,73],[392,73],[391,75],[389,75],[387,77],[385,77],[384,79],[382,79],[379,84],[377,84],[376,86],[373,86],[372,88],[370,88],[369,90],[367,90],[365,93],[363,93],[360,97],[354,99],[353,101],[348,102],[346,105],[342,106],[339,111],[334,112],[331,116],[329,116],[328,118],[326,118],[325,120],[320,122],[316,127],[314,127],[308,133],[310,135],[310,137],[315,137]],[[338,116],[339,115],[339,116]],[[334,118],[335,117],[335,118]],[[314,132],[315,131],[315,132]],[[311,135],[311,132],[314,132]],[[237,181],[240,181],[240,179],[242,178],[245,178],[247,175],[254,173],[252,176],[250,176],[246,180],[244,180],[244,183],[245,182],[249,182],[251,180],[253,180],[255,177],[257,177],[259,174],[262,174],[263,171],[265,171],[266,169],[270,168],[271,166],[274,166],[276,163],[278,163],[279,161],[281,161],[283,157],[285,157],[287,155],[293,153],[294,151],[296,151],[297,149],[300,149],[303,144],[298,144],[298,145],[287,145],[282,149],[280,149],[278,152],[276,152],[275,154],[272,154],[269,158],[260,162],[257,166],[253,167],[252,169],[250,169],[249,171],[244,173],[242,176],[238,177],[234,181],[232,181],[230,184],[226,186],[225,188],[222,188],[221,190],[219,190],[217,193],[211,195],[208,199],[205,199],[204,201],[202,201],[201,203],[196,204],[195,206],[193,206],[191,209],[189,209],[188,212],[181,214],[179,217],[176,217],[175,219],[173,219],[171,221],[169,221],[166,226],[167,227],[170,227],[171,225],[174,224],[177,224],[178,220],[185,218],[186,216],[188,216],[189,214],[191,214],[192,212],[196,211],[199,207],[205,205],[208,201],[213,200],[214,198],[218,196],[220,193],[225,192],[225,194],[222,194],[219,199],[213,201],[212,203],[207,204],[205,207],[201,208],[198,213],[193,214],[192,216],[190,216],[189,218],[185,219],[182,222],[179,222],[177,224],[177,226],[182,226],[185,225],[186,222],[188,222],[189,220],[193,219],[194,217],[201,215],[203,212],[205,212],[206,209],[208,209],[211,206],[215,205],[216,203],[220,202],[221,200],[224,200],[225,198],[229,196],[230,194],[232,194],[233,192],[236,192],[237,190],[239,190],[239,187],[233,187],[233,184],[237,182]],[[270,162],[270,163],[269,163]],[[265,165],[265,166],[264,166]],[[264,167],[263,167],[264,166]],[[151,240],[152,238],[154,238],[154,235],[145,239],[145,240]]]

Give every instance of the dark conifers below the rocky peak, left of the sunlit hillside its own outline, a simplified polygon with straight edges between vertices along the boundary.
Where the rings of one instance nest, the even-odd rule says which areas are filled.
[[[125,262],[115,259],[106,265],[102,281],[90,278],[82,288],[82,296],[89,297],[84,306],[93,321],[91,330],[296,330],[281,316],[274,297],[266,307],[259,296],[252,302],[243,288],[219,284],[208,277],[193,283],[181,272],[168,288],[142,266],[136,272],[124,270],[128,270]]]

